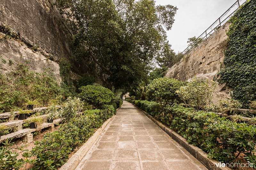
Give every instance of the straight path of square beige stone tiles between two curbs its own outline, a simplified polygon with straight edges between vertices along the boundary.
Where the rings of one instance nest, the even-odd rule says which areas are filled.
[[[76,170],[207,169],[144,113],[124,101]]]

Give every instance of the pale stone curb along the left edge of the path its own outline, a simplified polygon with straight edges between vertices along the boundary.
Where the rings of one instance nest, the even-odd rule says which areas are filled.
[[[119,107],[119,108],[121,108],[121,107]],[[116,109],[116,112],[119,108]],[[94,134],[76,151],[76,153],[74,155],[72,155],[63,166],[60,167],[59,170],[74,170],[74,169],[76,169],[78,164],[81,162],[81,160],[84,158],[86,153],[91,149],[94,142],[100,136],[101,132],[106,128],[108,123],[114,117],[115,117],[115,115],[113,115],[106,122],[104,122],[102,124],[102,126],[96,132],[94,132]]]

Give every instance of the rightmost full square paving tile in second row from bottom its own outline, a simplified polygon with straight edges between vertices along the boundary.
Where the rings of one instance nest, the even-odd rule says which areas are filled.
[[[164,149],[160,150],[164,159],[167,160],[189,160],[188,157],[180,149]]]

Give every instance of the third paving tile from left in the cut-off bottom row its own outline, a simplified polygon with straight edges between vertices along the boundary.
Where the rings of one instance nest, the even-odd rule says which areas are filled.
[[[142,170],[156,170],[156,169],[161,169],[161,170],[170,170],[166,162],[164,161],[141,161],[141,169]],[[178,168],[179,169],[179,168]],[[178,170],[176,169],[176,170]]]

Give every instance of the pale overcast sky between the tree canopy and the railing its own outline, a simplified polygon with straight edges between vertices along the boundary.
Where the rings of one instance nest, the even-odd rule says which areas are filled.
[[[174,52],[187,48],[190,37],[198,37],[236,0],[155,0],[156,5],[171,4],[178,10],[172,29],[167,32]]]

